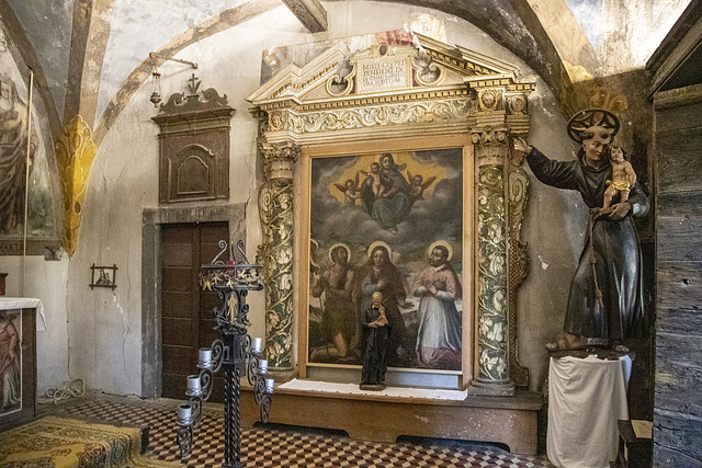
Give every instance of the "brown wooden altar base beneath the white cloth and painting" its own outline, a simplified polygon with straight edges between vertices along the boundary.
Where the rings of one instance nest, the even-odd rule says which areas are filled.
[[[259,420],[251,391],[242,389],[241,425]],[[398,436],[502,443],[514,454],[536,454],[542,396],[473,397],[463,401],[342,395],[275,388],[272,423],[346,431],[351,438],[395,442]]]

